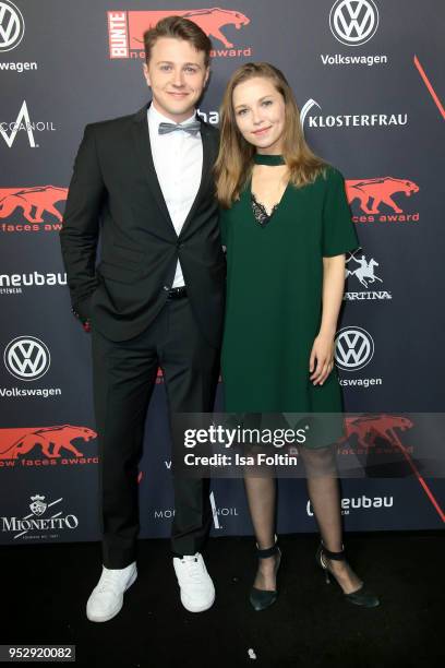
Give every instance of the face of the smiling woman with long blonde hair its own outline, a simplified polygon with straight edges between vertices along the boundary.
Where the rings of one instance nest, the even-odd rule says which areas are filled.
[[[255,76],[234,87],[232,105],[237,126],[258,153],[281,153],[285,100],[270,79]]]

